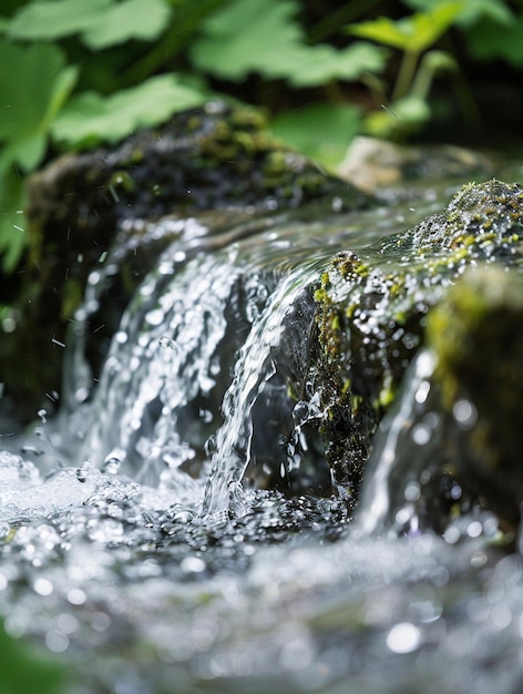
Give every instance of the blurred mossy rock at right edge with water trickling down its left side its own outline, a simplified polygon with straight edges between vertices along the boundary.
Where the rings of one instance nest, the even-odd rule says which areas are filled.
[[[357,514],[365,534],[443,533],[472,508],[517,528],[522,318],[523,275],[499,264],[469,267],[429,312],[425,346],[366,466]]]

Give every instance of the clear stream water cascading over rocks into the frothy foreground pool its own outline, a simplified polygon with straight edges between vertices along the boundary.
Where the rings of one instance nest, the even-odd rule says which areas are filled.
[[[69,663],[68,692],[520,691],[522,563],[496,548],[495,517],[457,519],[443,535],[413,522],[404,537],[372,534],[409,501],[388,493],[389,451],[427,357],[353,524],[336,496],[304,482],[284,493],[321,463],[306,426],[317,404],[286,390],[306,369],[304,297],[338,249],[407,228],[450,195],[393,212],[335,214],[332,201],[321,223],[275,213],[213,248],[185,222],[99,376],[86,333],[117,249],[92,273],[59,416],[41,410],[31,431],[0,439],[0,609],[9,634]]]

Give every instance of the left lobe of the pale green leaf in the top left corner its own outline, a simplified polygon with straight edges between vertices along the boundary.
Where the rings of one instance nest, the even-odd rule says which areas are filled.
[[[54,40],[100,23],[112,0],[41,0],[20,10],[9,27],[9,35],[25,40]]]

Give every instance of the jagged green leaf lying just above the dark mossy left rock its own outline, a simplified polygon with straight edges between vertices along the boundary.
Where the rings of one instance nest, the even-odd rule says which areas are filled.
[[[60,112],[51,130],[59,142],[73,145],[116,142],[205,100],[204,93],[181,84],[174,75],[160,75],[112,96],[79,94]]]

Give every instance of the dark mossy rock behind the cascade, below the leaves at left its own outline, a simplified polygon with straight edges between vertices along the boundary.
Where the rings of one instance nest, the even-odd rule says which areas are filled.
[[[173,238],[193,234],[213,238],[195,246],[226,244],[239,221],[338,193],[355,205],[363,198],[276,144],[252,110],[218,103],[114,147],[52,162],[29,181],[31,255],[13,313],[17,328],[0,346],[2,407],[10,404],[21,421],[43,405],[53,407],[68,331],[93,268],[105,272],[106,284],[92,325],[100,363],[134,289]],[[243,233],[257,231],[253,224]]]

